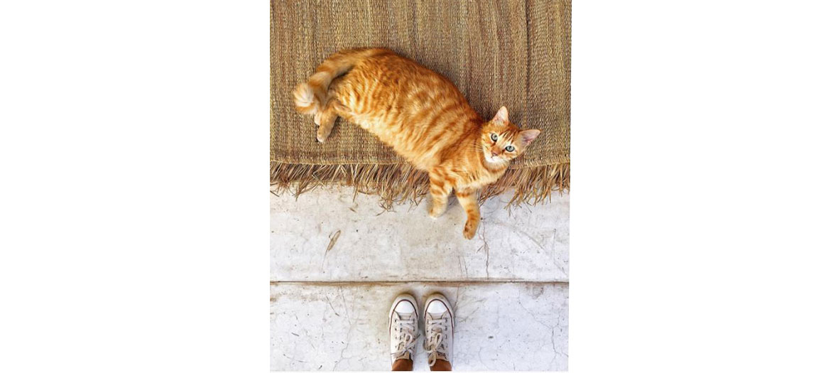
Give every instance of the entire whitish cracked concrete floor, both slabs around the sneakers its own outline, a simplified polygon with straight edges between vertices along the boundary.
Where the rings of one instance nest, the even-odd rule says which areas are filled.
[[[566,370],[569,196],[509,199],[482,206],[468,241],[453,198],[432,220],[426,202],[388,211],[346,188],[272,194],[272,370],[389,370],[386,313],[402,292],[453,303],[454,370]]]

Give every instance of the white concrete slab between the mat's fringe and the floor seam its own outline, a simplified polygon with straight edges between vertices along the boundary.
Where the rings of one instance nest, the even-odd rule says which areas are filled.
[[[504,210],[489,199],[473,240],[455,198],[437,220],[427,202],[385,211],[376,196],[316,189],[271,196],[272,281],[568,280],[569,196]],[[340,235],[327,252],[330,237]]]

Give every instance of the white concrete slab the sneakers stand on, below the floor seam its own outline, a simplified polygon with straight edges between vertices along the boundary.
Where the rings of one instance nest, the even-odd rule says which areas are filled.
[[[567,370],[567,284],[521,282],[274,283],[271,369],[390,370],[387,312],[405,291],[453,303],[453,370]],[[429,370],[421,350],[413,369]]]

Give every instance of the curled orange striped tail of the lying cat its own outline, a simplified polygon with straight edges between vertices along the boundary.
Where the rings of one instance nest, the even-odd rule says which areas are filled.
[[[300,83],[294,89],[294,105],[297,106],[297,111],[303,114],[317,114],[318,111],[322,111],[323,106],[326,105],[328,85],[334,78],[352,70],[360,60],[382,52],[392,53],[387,49],[365,48],[345,49],[330,55],[318,66],[307,82]]]

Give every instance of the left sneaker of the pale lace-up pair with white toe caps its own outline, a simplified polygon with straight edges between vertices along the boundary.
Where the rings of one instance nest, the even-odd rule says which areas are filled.
[[[401,294],[390,307],[390,356],[391,364],[397,359],[411,359],[416,354],[419,339],[419,313],[416,299]]]

